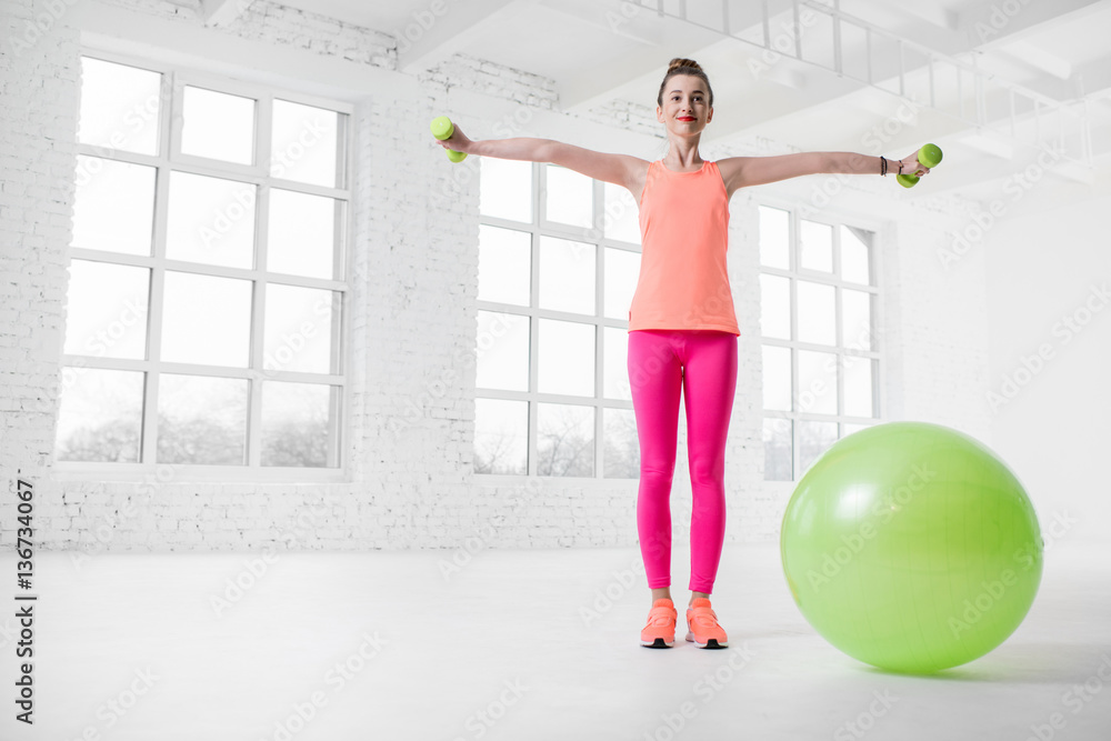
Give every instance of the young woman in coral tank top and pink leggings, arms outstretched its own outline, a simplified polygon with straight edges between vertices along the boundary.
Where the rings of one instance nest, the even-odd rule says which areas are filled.
[[[853,152],[779,157],[699,156],[713,119],[713,91],[698,62],[672,59],[657,97],[669,148],[648,162],[551,139],[472,141],[457,126],[441,146],[468,154],[551,162],[628,188],[640,208],[641,267],[629,311],[629,379],[640,441],[637,527],[652,607],[641,644],[674,644],[671,601],[671,482],[680,391],[685,398],[691,513],[691,600],[687,640],[725,648],[710,593],[725,533],[724,450],[737,382],[737,336],[725,270],[729,199],[740,188],[822,172],[913,173],[930,170],[918,152],[888,161]]]

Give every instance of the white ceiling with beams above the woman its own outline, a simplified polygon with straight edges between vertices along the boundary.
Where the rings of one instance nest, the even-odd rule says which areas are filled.
[[[550,78],[567,111],[654,107],[668,60],[693,58],[714,89],[707,143],[904,157],[934,141],[943,187],[975,200],[1039,156],[1045,203],[1111,192],[1111,0],[283,2],[399,38],[408,28],[403,72],[464,53]],[[1051,143],[1063,156],[1045,159]]]

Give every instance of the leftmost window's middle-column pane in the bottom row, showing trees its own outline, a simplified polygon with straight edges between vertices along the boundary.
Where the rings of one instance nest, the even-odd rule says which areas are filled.
[[[160,375],[158,462],[246,463],[247,380]]]

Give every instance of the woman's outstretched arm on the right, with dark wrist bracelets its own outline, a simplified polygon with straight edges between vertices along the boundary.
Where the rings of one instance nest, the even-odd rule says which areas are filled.
[[[902,163],[903,174],[923,176],[930,168],[918,161],[918,152],[902,160],[888,160],[888,173],[899,174]],[[857,152],[799,152],[777,157],[731,157],[720,160],[718,169],[729,192],[749,186],[762,186],[804,174],[844,173],[880,174],[879,157]]]

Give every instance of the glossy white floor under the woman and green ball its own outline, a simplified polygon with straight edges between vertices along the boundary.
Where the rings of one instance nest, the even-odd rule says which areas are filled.
[[[13,720],[7,617],[0,739],[1111,739],[1111,547],[1054,545],[1019,630],[929,678],[817,635],[775,543],[725,548],[722,651],[638,644],[634,549],[481,551],[446,575],[453,555],[40,553],[36,724]]]

